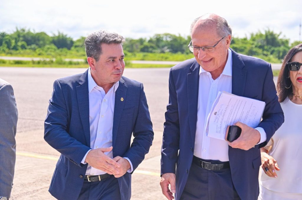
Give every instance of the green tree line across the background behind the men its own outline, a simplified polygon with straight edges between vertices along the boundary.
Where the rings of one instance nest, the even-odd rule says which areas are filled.
[[[170,33],[155,34],[150,38],[126,38],[124,51],[130,60],[185,60],[193,57],[187,46],[190,36]],[[16,28],[9,34],[0,32],[0,54],[39,57],[85,58],[85,37],[73,40],[63,32],[52,36],[45,32]],[[251,33],[243,38],[234,37],[231,48],[242,54],[255,56],[268,62],[281,62],[287,51],[301,43],[281,37],[270,29]]]

